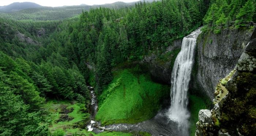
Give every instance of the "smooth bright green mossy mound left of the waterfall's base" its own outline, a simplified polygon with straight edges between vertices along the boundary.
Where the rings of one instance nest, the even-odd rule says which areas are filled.
[[[160,100],[166,95],[169,87],[152,82],[148,75],[135,74],[133,69],[117,71],[99,97],[96,120],[103,125],[148,120],[159,110]]]

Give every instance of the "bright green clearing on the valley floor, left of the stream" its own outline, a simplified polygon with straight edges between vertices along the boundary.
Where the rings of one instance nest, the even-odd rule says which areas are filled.
[[[44,106],[45,112],[48,113],[47,121],[49,123],[49,131],[53,136],[64,136],[67,134],[86,136],[131,136],[131,133],[123,132],[104,132],[96,135],[93,132],[86,131],[86,123],[90,121],[90,114],[86,113],[87,109],[82,103],[76,101],[48,101]],[[72,120],[60,121],[63,112],[67,112],[68,117]],[[68,113],[69,112],[69,113]],[[82,128],[82,129],[81,129]]]

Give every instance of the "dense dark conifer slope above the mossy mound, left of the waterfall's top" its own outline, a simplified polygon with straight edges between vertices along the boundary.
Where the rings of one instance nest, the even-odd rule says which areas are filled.
[[[207,5],[198,0],[139,2],[131,8],[83,12],[69,29],[76,63],[95,64],[97,93],[113,79],[111,69],[125,61],[141,60],[152,51],[161,54],[174,39],[202,24]]]

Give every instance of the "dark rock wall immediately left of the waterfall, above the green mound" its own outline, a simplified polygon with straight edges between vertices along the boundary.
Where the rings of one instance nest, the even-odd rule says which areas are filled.
[[[158,82],[170,84],[172,76],[172,68],[176,56],[180,52],[182,39],[177,39],[172,45],[168,46],[165,53],[159,55],[152,53],[143,58],[140,62],[146,66],[153,79]]]

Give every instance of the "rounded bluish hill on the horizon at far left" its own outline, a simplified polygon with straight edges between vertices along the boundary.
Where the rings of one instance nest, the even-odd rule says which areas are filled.
[[[41,8],[43,6],[36,4],[36,3],[31,3],[31,2],[15,2],[10,5],[5,5],[0,7],[0,11],[2,12],[15,12],[15,11],[20,11],[23,9],[27,8]]]

